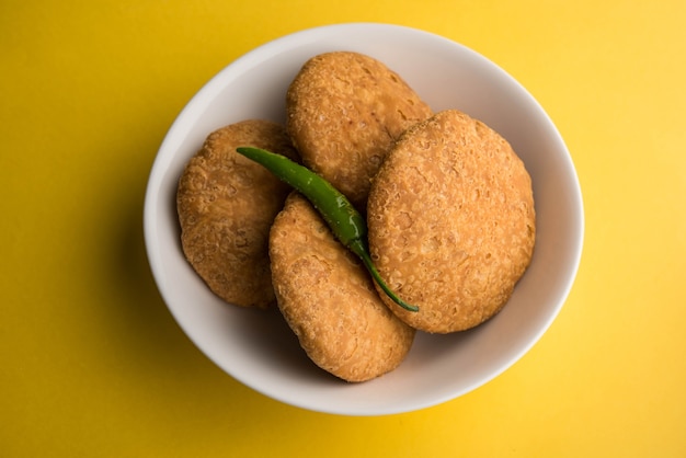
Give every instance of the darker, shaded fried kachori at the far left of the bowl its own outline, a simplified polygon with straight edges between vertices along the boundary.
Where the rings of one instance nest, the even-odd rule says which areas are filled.
[[[268,232],[290,187],[236,152],[254,146],[297,159],[284,126],[251,119],[207,137],[179,181],[183,252],[207,286],[241,307],[275,302]]]

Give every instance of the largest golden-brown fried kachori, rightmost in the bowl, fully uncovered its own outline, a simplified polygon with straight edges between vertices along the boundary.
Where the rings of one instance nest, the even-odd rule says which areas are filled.
[[[530,178],[510,144],[458,111],[408,130],[376,176],[369,248],[410,325],[448,333],[472,328],[508,300],[536,236]]]

